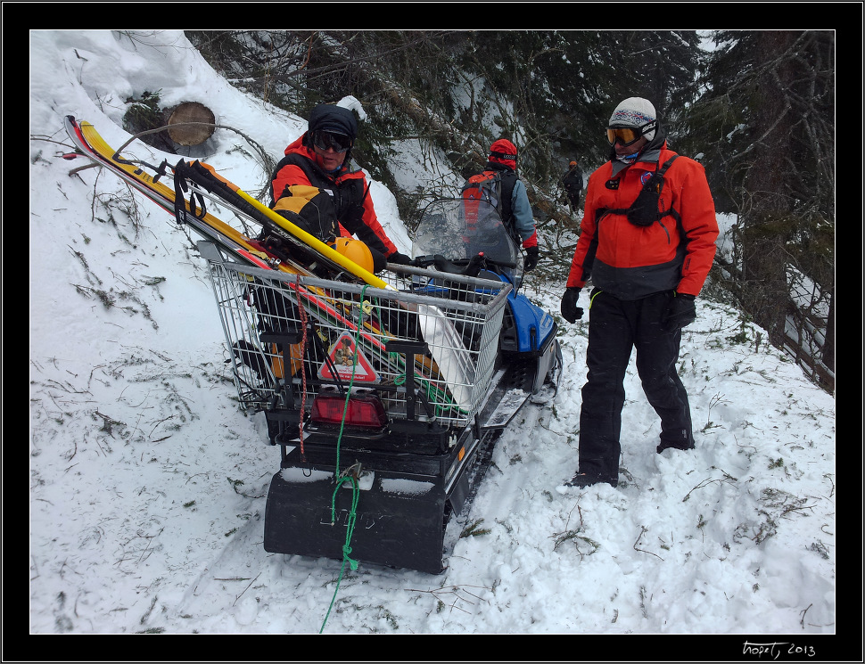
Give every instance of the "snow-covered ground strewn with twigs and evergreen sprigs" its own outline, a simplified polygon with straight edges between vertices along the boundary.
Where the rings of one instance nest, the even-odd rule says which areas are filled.
[[[627,480],[559,489],[576,469],[588,329],[563,322],[561,389],[500,439],[460,518],[477,534],[457,540],[443,574],[361,563],[337,588],[338,561],[266,553],[278,450],[261,415],[235,405],[202,259],[117,177],[70,177],[86,161],[58,157],[70,151],[64,115],[118,147],[126,100],[157,90],[165,106],[206,103],[276,158],[305,127],[230,86],[182,32],[31,33],[31,634],[728,635],[684,659],[770,659],[747,649],[772,642],[792,644],[781,659],[835,652],[835,399],[707,299],[680,358],[694,452],[655,454],[658,420],[631,367]],[[189,156],[246,191],[266,184],[240,135],[218,131],[206,146]],[[373,196],[408,249],[391,193]],[[525,288],[558,315],[564,282],[530,276]],[[593,659],[644,659],[611,652]],[[538,659],[581,655],[575,645]]]

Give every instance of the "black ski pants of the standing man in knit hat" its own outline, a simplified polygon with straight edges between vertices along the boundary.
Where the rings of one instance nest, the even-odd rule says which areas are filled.
[[[661,417],[661,447],[694,447],[688,394],[679,378],[681,330],[663,332],[669,291],[647,298],[617,299],[594,289],[589,306],[588,381],[582,388],[580,472],[617,480],[622,451],[624,377],[631,348],[649,404]]]

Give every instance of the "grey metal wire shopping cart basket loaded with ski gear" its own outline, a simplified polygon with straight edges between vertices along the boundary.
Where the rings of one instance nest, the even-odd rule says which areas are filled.
[[[245,409],[372,390],[389,418],[465,426],[482,406],[510,284],[406,266],[379,289],[205,254]]]

